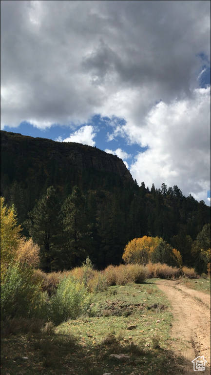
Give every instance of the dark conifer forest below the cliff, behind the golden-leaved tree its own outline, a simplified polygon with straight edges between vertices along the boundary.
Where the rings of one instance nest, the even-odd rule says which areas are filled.
[[[163,193],[152,187],[149,191],[144,184],[141,187],[135,184],[132,197],[127,189],[122,194],[118,189],[83,193],[75,186],[62,199],[51,186],[28,212],[23,233],[40,247],[40,266],[46,272],[70,270],[80,266],[87,256],[98,269],[118,265],[126,246],[144,237],[162,240],[153,253],[156,261],[178,266],[177,251],[182,265],[205,272],[207,252],[203,258],[201,250],[210,248],[210,225],[200,221],[207,206],[197,202],[194,213],[198,217],[192,218],[184,209],[184,202],[190,204],[192,198],[183,197],[178,190],[174,187],[171,197],[171,190]],[[183,218],[185,214],[188,220]],[[173,249],[174,256],[167,256]],[[161,253],[165,254],[163,261]]]

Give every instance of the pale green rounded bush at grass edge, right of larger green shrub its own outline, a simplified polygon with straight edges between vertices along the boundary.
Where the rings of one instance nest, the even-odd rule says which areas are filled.
[[[59,283],[55,295],[51,297],[51,321],[58,325],[68,319],[76,319],[90,310],[91,294],[83,283],[73,276],[65,276]]]

